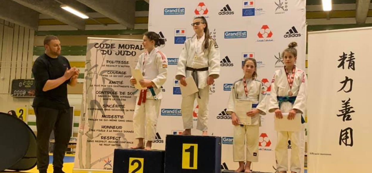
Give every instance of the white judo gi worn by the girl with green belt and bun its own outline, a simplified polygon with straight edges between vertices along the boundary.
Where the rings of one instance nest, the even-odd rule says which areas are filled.
[[[289,72],[290,75],[292,71]],[[294,104],[289,101],[283,101],[280,105],[280,111],[282,113],[288,113],[292,109],[296,109],[297,113],[304,114],[305,104],[307,97],[307,76],[306,73],[296,68],[294,82],[292,89],[290,89],[287,75],[285,69],[275,71],[272,82],[271,82],[271,92],[269,100],[269,112],[274,112],[279,108],[279,101],[277,97],[287,97],[289,92],[292,92],[292,97],[296,97]],[[297,116],[297,115],[296,115]],[[275,147],[275,158],[276,166],[278,171],[288,171],[288,140],[291,140],[291,168],[290,171],[300,173],[301,167],[301,152],[300,148],[302,146],[302,131],[291,132],[291,131],[278,131],[278,143]]]

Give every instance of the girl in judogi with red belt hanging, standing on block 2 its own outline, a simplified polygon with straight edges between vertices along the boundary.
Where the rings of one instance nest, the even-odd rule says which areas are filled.
[[[142,45],[146,52],[140,55],[135,69],[142,71],[144,79],[138,82],[147,89],[136,92],[133,127],[138,144],[132,149],[151,150],[152,141],[155,140],[160,102],[163,98],[161,86],[167,79],[168,66],[166,55],[156,47],[164,44],[164,40],[155,32],[146,32],[143,36]],[[135,78],[131,78],[130,82],[132,85],[137,84]]]

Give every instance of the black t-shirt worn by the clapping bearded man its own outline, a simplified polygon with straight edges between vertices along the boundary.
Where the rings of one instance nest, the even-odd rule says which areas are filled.
[[[70,69],[70,63],[64,56],[51,58],[47,54],[39,56],[33,66],[32,74],[35,77],[35,98],[32,107],[47,107],[53,109],[68,109],[67,83],[68,79],[57,88],[43,91],[44,85],[48,80],[60,78],[64,75],[66,68]]]

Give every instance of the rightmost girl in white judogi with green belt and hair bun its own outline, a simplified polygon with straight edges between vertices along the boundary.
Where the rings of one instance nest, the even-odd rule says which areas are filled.
[[[282,53],[284,68],[275,71],[271,82],[269,112],[275,112],[276,118],[283,118],[288,114],[288,120],[293,120],[297,113],[303,114],[306,104],[307,76],[305,72],[296,68],[296,42],[288,45]],[[305,120],[301,115],[301,123]],[[291,140],[291,168],[292,173],[301,172],[301,131],[278,131],[278,143],[275,147],[276,167],[279,173],[288,171],[288,140]]]

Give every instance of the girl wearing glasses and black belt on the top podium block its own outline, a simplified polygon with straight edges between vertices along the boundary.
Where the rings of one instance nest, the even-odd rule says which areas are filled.
[[[193,128],[194,101],[199,105],[198,123],[196,129],[202,135],[208,134],[208,102],[209,85],[214,84],[214,79],[219,77],[219,48],[214,39],[209,35],[208,23],[205,17],[195,17],[191,24],[195,35],[185,42],[177,64],[176,79],[181,85],[186,86],[185,78],[192,76],[199,92],[182,97],[181,112],[183,119],[183,135],[191,135]]]

